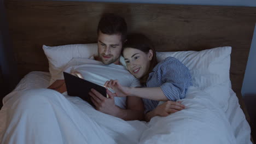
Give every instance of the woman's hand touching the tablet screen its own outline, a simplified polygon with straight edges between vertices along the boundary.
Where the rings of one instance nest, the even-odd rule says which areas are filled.
[[[113,89],[117,97],[126,97],[129,95],[130,87],[121,86],[118,80],[106,81],[104,86]]]

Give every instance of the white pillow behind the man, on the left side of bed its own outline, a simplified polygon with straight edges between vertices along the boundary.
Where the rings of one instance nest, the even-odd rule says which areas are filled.
[[[63,71],[65,65],[74,57],[89,58],[97,54],[97,43],[95,44],[72,44],[61,46],[43,45],[43,50],[48,58],[49,71],[51,74],[50,84],[53,83]]]

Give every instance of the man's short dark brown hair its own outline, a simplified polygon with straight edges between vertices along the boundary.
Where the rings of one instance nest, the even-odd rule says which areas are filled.
[[[115,14],[104,14],[98,22],[97,32],[100,31],[108,35],[120,34],[124,43],[127,35],[127,24],[123,17]]]

